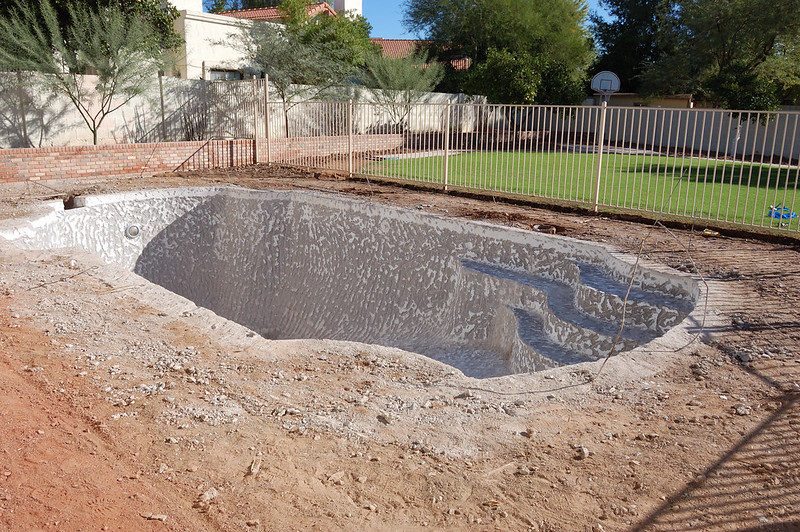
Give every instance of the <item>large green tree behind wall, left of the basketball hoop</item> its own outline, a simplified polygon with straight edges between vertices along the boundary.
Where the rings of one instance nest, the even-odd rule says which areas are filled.
[[[545,84],[579,85],[593,59],[583,0],[406,0],[405,6],[405,25],[432,41],[437,59],[445,64],[454,58],[471,60],[473,72],[449,72],[456,84],[451,90],[481,88],[485,92],[490,87],[477,81],[507,75],[513,56],[540,70],[527,77],[532,83],[529,90],[516,91],[524,98],[515,103],[530,101],[531,95],[538,102],[540,94],[571,97],[572,91],[560,94],[557,87]],[[564,77],[543,75],[548,67]]]

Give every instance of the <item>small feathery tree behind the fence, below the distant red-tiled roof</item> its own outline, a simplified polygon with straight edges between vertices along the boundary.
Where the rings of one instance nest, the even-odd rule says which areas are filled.
[[[413,104],[431,92],[443,75],[442,65],[428,62],[425,51],[400,58],[374,52],[367,56],[361,79],[372,99],[388,110],[395,124],[405,128]]]

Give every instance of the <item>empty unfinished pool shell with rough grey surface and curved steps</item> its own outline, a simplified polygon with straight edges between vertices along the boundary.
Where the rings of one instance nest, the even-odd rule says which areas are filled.
[[[615,340],[632,349],[699,293],[600,246],[326,194],[169,189],[76,205],[3,236],[82,246],[265,338],[398,347],[478,378],[597,360]]]

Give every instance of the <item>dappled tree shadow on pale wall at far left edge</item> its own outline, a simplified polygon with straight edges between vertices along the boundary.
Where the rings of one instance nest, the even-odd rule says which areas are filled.
[[[0,148],[39,148],[68,129],[69,104],[37,90],[34,78],[0,73]]]

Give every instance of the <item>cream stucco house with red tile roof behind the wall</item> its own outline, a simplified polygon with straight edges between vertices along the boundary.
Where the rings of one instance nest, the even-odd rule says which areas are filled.
[[[179,13],[175,32],[183,38],[172,70],[178,78],[242,79],[249,65],[238,47],[231,45],[231,36],[239,33],[243,21],[280,23],[276,8],[204,13],[203,0],[170,1]],[[318,2],[309,7],[309,14],[324,16],[353,12],[360,15],[361,4],[361,0],[334,0],[331,8],[327,2]]]

